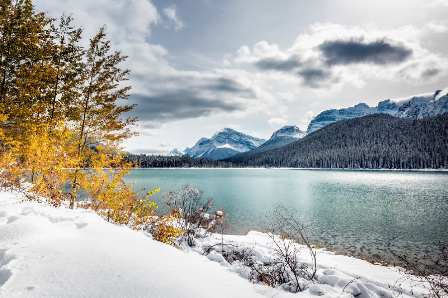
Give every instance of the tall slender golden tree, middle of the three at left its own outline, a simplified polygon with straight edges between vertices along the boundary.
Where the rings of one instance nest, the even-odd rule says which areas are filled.
[[[70,123],[66,113],[71,99],[79,94],[84,50],[78,45],[82,29],[74,28],[72,20],[70,15],[63,14],[58,26],[54,22],[50,24],[47,51],[41,55],[41,59],[49,61],[50,67],[46,69],[46,89],[41,90],[39,104],[34,107],[35,123],[27,130],[25,157],[31,169],[30,181],[35,184],[33,198],[39,195],[47,200],[60,200],[62,191],[59,188],[68,179],[63,171],[77,164],[73,162],[76,157],[73,135],[70,134],[73,132],[68,129]],[[60,158],[62,153],[64,160]],[[47,162],[40,162],[45,159]]]

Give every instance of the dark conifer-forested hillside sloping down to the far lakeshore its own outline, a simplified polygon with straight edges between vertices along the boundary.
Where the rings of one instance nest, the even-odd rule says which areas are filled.
[[[440,169],[448,166],[448,113],[425,119],[373,114],[226,162],[254,167]]]

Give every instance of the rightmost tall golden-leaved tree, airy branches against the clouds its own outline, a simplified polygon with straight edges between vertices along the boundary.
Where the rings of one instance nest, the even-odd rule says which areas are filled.
[[[122,81],[127,80],[129,71],[117,67],[126,56],[120,52],[109,54],[110,50],[111,41],[106,39],[105,27],[102,27],[90,39],[90,45],[85,51],[82,74],[84,84],[80,97],[76,98],[68,114],[75,123],[75,154],[80,160],[72,171],[70,208],[74,207],[79,180],[85,179],[82,169],[87,165],[89,157],[95,155],[94,148],[104,145],[118,151],[124,139],[135,135],[130,131],[130,126],[136,119],[120,118],[134,105],[117,104],[118,100],[127,99],[130,89],[130,86],[120,86]]]

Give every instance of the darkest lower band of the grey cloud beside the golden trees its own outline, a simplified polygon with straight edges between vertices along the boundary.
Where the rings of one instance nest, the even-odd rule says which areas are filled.
[[[140,120],[177,120],[208,116],[214,112],[232,112],[241,107],[223,99],[204,98],[191,90],[167,91],[158,95],[132,94],[137,106],[128,114]]]

